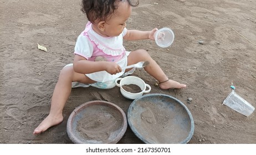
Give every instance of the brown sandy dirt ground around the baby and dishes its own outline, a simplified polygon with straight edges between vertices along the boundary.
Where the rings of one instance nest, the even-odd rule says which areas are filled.
[[[59,71],[72,63],[76,38],[87,20],[80,0],[0,0],[0,13],[0,143],[72,143],[68,117],[92,100],[112,102],[127,112],[132,100],[117,86],[76,88],[64,108],[64,121],[32,135],[49,113]],[[236,92],[256,107],[256,1],[141,0],[127,28],[155,27],[173,30],[170,48],[151,40],[124,44],[127,50],[146,49],[168,77],[187,84],[187,89],[161,90],[144,70],[134,73],[152,87],[150,93],[171,95],[188,107],[195,126],[188,143],[256,143],[255,111],[245,117],[222,105],[233,82]],[[37,43],[48,51],[39,50]],[[143,142],[128,127],[119,143]]]

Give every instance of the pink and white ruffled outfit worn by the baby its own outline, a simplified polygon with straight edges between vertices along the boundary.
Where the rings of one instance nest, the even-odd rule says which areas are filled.
[[[117,37],[103,37],[96,33],[91,23],[86,24],[85,30],[79,35],[75,44],[74,54],[83,56],[89,61],[98,61],[97,58],[103,58],[105,61],[112,61],[117,63],[121,68],[127,66],[127,56],[129,51],[126,51],[123,43],[127,29]],[[71,65],[71,64],[70,64]],[[117,77],[124,74],[122,72],[111,75],[106,71],[98,71],[95,73],[85,74],[90,79],[98,82],[114,81]]]

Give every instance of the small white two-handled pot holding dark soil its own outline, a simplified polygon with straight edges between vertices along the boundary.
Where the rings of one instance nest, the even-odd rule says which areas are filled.
[[[119,80],[120,82],[118,83],[117,81]],[[144,93],[150,92],[151,90],[151,86],[149,84],[146,84],[142,79],[140,79],[140,77],[136,77],[136,76],[125,76],[123,78],[119,77],[115,80],[115,83],[116,83],[116,86],[120,87],[122,96],[131,100],[137,99],[140,96],[142,96]],[[139,86],[141,89],[141,92],[138,92],[138,93],[128,92],[124,90],[124,88],[122,87],[122,85],[130,85],[130,84]]]

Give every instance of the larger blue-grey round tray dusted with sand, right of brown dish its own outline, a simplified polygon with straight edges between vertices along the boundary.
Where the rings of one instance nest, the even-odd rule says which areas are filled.
[[[134,100],[127,120],[131,130],[145,143],[187,143],[194,133],[188,108],[164,94],[148,94]]]

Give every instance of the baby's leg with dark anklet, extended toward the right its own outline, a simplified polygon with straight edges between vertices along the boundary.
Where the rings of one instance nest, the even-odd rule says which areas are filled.
[[[155,60],[151,58],[149,53],[147,53],[146,50],[135,50],[131,51],[131,53],[128,56],[128,64],[135,64],[139,61],[149,61],[149,65],[147,65],[144,69],[149,73],[151,76],[155,77],[156,80],[160,82],[160,88],[161,89],[173,89],[173,88],[186,88],[187,86],[185,84],[180,84],[180,82],[170,80],[165,73],[163,73],[163,70],[160,68],[160,66],[156,63]]]

